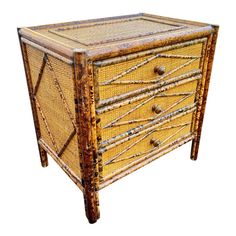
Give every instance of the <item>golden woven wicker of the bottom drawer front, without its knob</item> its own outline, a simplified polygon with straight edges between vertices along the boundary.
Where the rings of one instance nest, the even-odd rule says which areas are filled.
[[[172,143],[174,140],[180,138],[181,136],[189,134],[191,121],[192,113],[158,127],[159,131],[157,130],[150,135],[147,135],[147,133],[145,133],[115,148],[108,150],[103,154],[102,158],[104,165],[102,176],[105,177],[107,175],[115,175],[115,172],[117,170],[123,168],[127,164],[136,161],[141,157],[144,157],[145,155],[151,153],[153,150],[157,150],[158,148]],[[150,144],[150,140],[152,138],[160,141],[160,145],[158,147],[154,147],[152,144]],[[135,145],[132,146],[132,144]],[[130,149],[129,146],[131,146]],[[119,153],[122,154],[119,155]],[[106,163],[114,157],[116,158],[113,160],[113,162],[108,164]]]

